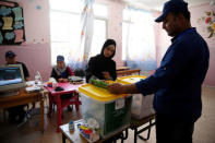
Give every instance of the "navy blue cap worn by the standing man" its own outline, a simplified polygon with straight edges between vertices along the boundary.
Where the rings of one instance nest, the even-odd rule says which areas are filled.
[[[158,16],[155,22],[162,22],[169,12],[187,12],[188,3],[183,0],[169,0],[165,2],[163,13]]]

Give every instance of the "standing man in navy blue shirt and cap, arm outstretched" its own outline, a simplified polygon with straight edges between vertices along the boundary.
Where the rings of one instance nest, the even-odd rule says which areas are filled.
[[[110,93],[155,93],[157,143],[192,143],[194,122],[202,111],[201,86],[205,79],[210,51],[205,40],[190,24],[188,3],[170,0],[155,22],[172,37],[160,67],[135,84],[109,85]]]

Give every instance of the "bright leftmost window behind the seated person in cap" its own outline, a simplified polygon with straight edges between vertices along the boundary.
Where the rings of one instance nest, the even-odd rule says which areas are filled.
[[[79,46],[81,1],[50,0],[51,64],[62,55],[68,62],[71,48]]]

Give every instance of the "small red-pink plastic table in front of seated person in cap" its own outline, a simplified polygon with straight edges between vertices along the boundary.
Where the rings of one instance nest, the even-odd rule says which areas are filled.
[[[71,83],[58,83],[57,86],[61,86],[64,91],[56,92],[53,87],[45,86],[45,88],[49,92],[49,116],[52,111],[52,104],[57,104],[57,132],[59,132],[59,127],[62,124],[62,109],[68,105],[74,104],[76,110],[79,110],[79,105],[81,102],[79,99],[79,94],[76,90],[83,84],[71,84]],[[63,100],[60,98],[63,94],[73,94],[72,99]],[[63,103],[63,104],[62,104]]]

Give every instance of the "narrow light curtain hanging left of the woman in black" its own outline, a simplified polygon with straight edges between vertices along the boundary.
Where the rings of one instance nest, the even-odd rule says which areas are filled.
[[[93,29],[94,29],[94,0],[84,0],[80,20],[80,38],[77,48],[72,48],[69,56],[69,63],[72,69],[85,69],[89,58]]]

